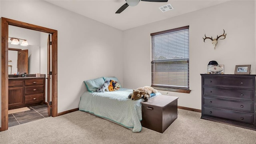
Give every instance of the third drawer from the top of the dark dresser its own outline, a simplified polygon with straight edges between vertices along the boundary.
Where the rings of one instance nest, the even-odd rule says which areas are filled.
[[[212,106],[253,113],[253,102],[203,97],[203,106]]]

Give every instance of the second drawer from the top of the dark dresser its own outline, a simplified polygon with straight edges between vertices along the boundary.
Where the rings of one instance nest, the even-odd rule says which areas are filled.
[[[253,101],[253,90],[203,87],[204,96]]]

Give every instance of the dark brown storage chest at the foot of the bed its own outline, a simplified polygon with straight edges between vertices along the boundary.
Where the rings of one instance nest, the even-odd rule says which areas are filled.
[[[142,104],[142,121],[145,128],[163,133],[178,117],[178,97],[159,95]]]

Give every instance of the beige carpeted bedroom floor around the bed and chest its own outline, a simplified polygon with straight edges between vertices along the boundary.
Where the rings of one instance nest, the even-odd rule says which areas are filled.
[[[179,109],[163,133],[132,130],[76,111],[10,127],[1,144],[256,144],[256,131],[200,119],[201,113]]]

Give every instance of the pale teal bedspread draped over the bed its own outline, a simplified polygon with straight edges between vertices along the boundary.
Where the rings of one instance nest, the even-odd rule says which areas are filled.
[[[132,132],[140,132],[142,129],[140,102],[144,99],[128,99],[130,93],[132,93],[132,89],[126,88],[120,88],[112,92],[86,91],[81,96],[79,110],[106,118],[126,128],[131,128]]]

